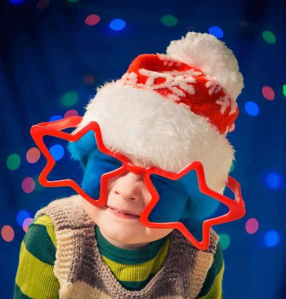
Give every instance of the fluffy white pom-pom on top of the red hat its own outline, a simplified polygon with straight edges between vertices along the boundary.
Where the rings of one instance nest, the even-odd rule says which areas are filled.
[[[235,101],[241,93],[243,76],[232,50],[212,34],[188,32],[180,40],[172,40],[166,54],[212,76]]]

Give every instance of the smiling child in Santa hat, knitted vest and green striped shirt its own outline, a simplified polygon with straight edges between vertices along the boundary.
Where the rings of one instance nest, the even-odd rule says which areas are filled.
[[[106,147],[143,168],[178,172],[198,160],[208,187],[223,194],[234,158],[226,134],[242,88],[231,50],[210,34],[189,32],[167,55],[139,55],[120,80],[99,88],[75,132],[96,121]],[[85,169],[89,196],[103,162],[94,146],[83,138],[69,148]],[[171,212],[192,223],[218,206],[194,189],[165,188],[176,194]],[[223,298],[224,262],[213,230],[209,247],[199,250],[176,229],[144,226],[140,215],[151,194],[133,171],[110,179],[107,197],[99,207],[73,195],[36,213],[21,245],[14,298]],[[184,211],[175,209],[181,198],[188,199]]]

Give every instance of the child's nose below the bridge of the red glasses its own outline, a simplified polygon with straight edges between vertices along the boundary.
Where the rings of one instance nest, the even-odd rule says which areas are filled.
[[[137,202],[143,193],[143,185],[145,183],[142,175],[127,171],[117,179],[113,192],[117,196],[120,195],[124,200]]]

